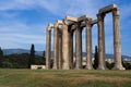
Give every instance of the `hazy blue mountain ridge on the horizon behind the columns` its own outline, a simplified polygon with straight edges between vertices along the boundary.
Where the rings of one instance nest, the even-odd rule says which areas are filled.
[[[21,53],[29,53],[29,50],[27,50],[27,49],[3,49],[3,53],[4,53],[4,55],[13,54],[13,53],[21,54]],[[51,52],[51,57],[52,57],[52,53],[53,52]],[[36,54],[43,55],[43,51],[36,51]],[[74,55],[75,55],[75,53],[74,53]],[[83,52],[83,57],[86,57],[86,52]],[[129,55],[122,55],[122,58],[131,59],[131,57],[129,57]],[[106,53],[106,59],[114,59],[114,54]]]

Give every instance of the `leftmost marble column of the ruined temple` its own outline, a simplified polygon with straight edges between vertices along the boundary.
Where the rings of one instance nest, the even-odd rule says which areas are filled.
[[[46,69],[49,70],[50,69],[50,47],[51,47],[51,35],[50,35],[50,30],[48,30],[47,28],[47,33],[46,33]]]

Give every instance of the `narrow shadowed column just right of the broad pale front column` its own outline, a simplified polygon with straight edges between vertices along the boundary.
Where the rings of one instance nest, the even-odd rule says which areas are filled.
[[[70,69],[73,69],[73,32],[70,32],[69,35],[70,40]]]

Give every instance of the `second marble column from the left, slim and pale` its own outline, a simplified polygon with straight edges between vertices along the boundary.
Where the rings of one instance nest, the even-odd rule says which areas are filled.
[[[59,58],[59,38],[58,38],[58,28],[55,28],[55,36],[53,36],[53,70],[58,70],[58,58]]]

